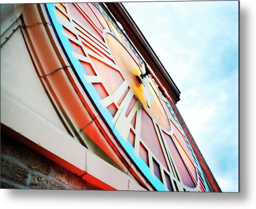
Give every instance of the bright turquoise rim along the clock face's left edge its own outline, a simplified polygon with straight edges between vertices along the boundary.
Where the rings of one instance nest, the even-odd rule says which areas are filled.
[[[138,166],[138,168],[141,170],[141,172],[144,174],[144,176],[149,180],[149,182],[152,184],[152,186],[158,190],[158,191],[165,191],[164,184],[155,176],[153,177],[151,175],[151,171],[149,166],[143,161],[141,157],[137,158],[137,156],[134,154],[134,148],[130,144],[130,142],[127,140],[125,141],[124,138],[119,134],[118,130],[115,128],[113,121],[113,116],[110,114],[109,110],[107,108],[103,108],[100,104],[101,98],[98,94],[98,92],[93,87],[92,83],[89,83],[85,79],[85,71],[83,66],[80,64],[78,59],[74,58],[72,51],[73,48],[70,44],[70,41],[67,37],[65,37],[62,32],[64,31],[63,26],[61,23],[59,23],[55,16],[55,10],[56,7],[54,4],[45,4],[46,10],[48,11],[48,16],[50,17],[50,20],[52,22],[53,30],[55,31],[56,36],[58,37],[59,43],[63,49],[63,51],[66,53],[67,58],[70,61],[71,67],[73,71],[76,73],[78,78],[80,79],[81,84],[85,87],[86,91],[91,96],[92,101],[97,106],[99,112],[104,117],[107,124],[110,126],[111,130],[115,134],[117,140],[119,143],[123,146],[123,148],[126,150],[127,154],[131,157],[133,162]]]

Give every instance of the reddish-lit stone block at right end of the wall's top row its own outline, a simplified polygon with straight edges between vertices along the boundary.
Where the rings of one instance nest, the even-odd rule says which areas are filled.
[[[66,185],[78,190],[101,190],[99,187],[91,185],[90,183],[85,182],[79,176],[67,171],[66,169],[62,168],[58,164],[51,165],[51,175]]]

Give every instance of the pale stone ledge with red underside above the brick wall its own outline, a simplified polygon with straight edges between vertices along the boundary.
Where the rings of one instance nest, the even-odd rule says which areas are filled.
[[[22,120],[22,121],[21,121]],[[18,133],[20,141],[77,175],[93,179],[95,186],[109,190],[140,190],[129,176],[100,159],[74,139],[53,127],[14,98],[1,91],[1,123]],[[87,163],[88,162],[88,163]],[[109,175],[102,175],[104,171]],[[120,182],[124,184],[119,184]]]

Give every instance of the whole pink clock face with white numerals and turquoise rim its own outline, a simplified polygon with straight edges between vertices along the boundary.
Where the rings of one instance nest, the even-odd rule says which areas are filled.
[[[149,73],[152,69],[111,17],[92,3],[46,8],[77,79],[149,183],[161,191],[207,191],[191,145]]]

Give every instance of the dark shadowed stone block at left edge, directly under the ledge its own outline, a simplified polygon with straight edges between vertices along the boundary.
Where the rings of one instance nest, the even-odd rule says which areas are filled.
[[[50,173],[50,160],[5,135],[1,135],[1,153],[20,160],[34,170]]]

